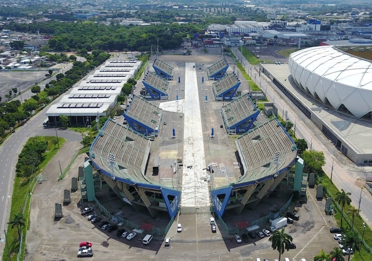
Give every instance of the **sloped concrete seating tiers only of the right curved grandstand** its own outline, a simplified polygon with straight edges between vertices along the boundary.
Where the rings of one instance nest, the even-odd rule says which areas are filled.
[[[294,161],[297,156],[296,146],[278,123],[277,119],[273,119],[237,139],[238,152],[245,170],[237,183],[275,175],[277,166],[274,164],[274,155],[277,152],[280,154],[278,170]]]

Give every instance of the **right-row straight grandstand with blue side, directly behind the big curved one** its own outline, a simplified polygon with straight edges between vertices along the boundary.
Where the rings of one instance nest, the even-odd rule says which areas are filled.
[[[248,94],[222,107],[222,118],[228,132],[232,129],[236,129],[236,133],[247,132],[258,114],[259,110],[253,104]]]

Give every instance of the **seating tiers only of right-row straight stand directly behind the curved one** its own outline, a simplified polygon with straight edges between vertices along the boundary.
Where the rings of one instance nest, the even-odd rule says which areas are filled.
[[[226,119],[226,125],[229,128],[247,119],[248,116],[255,112],[257,112],[257,108],[252,103],[252,100],[250,100],[248,94],[222,107],[222,116]]]

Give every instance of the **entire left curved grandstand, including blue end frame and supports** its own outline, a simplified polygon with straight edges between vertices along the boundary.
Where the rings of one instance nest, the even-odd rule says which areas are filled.
[[[145,136],[110,119],[92,143],[90,157],[101,178],[123,203],[147,209],[152,217],[177,213],[181,192],[154,184],[145,176],[151,142]]]

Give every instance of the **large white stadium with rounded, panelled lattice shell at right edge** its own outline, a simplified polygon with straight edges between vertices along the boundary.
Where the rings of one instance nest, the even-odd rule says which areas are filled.
[[[294,52],[289,70],[297,85],[335,109],[360,118],[372,111],[372,62],[320,46]]]

